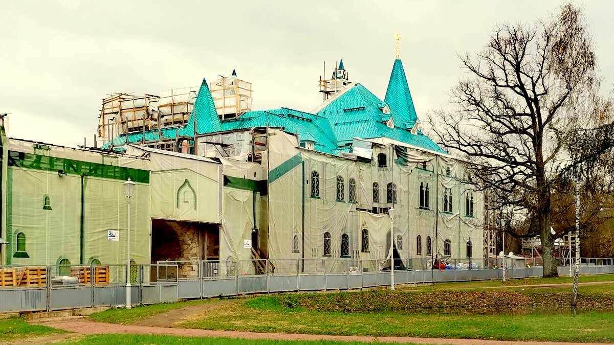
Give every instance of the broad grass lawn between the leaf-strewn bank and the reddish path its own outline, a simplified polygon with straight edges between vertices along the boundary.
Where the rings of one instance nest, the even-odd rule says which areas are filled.
[[[397,292],[398,293],[398,292]],[[403,292],[401,292],[403,293]],[[203,312],[181,327],[323,335],[418,336],[518,341],[614,341],[614,312],[562,315],[400,314],[285,308],[259,297]]]

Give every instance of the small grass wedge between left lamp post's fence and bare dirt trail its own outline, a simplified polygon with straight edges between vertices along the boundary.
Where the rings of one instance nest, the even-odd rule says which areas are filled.
[[[109,309],[106,311],[91,314],[88,319],[98,322],[109,322],[111,324],[132,324],[139,320],[144,320],[156,314],[160,314],[161,312],[167,312],[169,310],[185,308],[189,306],[196,306],[198,304],[203,303],[211,303],[212,301],[217,300],[195,300],[177,303],[160,303],[150,304],[147,306],[135,306],[130,309]]]

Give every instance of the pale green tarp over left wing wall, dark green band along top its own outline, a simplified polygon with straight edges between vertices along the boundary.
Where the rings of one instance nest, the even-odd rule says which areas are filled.
[[[128,177],[136,182],[131,259],[149,263],[149,160],[14,139],[9,149],[7,264],[125,263]]]

